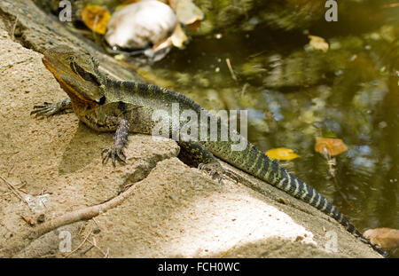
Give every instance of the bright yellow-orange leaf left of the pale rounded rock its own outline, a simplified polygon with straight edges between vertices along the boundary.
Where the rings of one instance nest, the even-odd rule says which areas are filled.
[[[82,10],[81,15],[87,28],[101,35],[106,34],[106,25],[111,19],[111,14],[106,8],[95,4],[87,4]]]

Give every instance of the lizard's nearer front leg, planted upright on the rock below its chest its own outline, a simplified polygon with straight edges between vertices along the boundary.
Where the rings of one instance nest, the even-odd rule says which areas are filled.
[[[128,143],[130,123],[128,120],[121,118],[114,118],[113,120],[119,124],[113,138],[113,146],[103,149],[102,154],[104,154],[103,163],[111,157],[113,166],[115,166],[116,157],[118,157],[121,162],[126,163],[126,155],[123,153],[123,149]]]

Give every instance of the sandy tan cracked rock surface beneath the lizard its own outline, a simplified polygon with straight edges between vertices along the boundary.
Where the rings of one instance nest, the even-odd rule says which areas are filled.
[[[12,35],[19,4],[0,3],[0,257],[379,257],[309,204],[224,163],[243,180],[219,185],[181,162],[172,140],[130,135],[127,164],[113,168],[100,162],[111,133],[74,114],[30,116],[66,94],[43,67],[45,47]],[[60,217],[74,219],[51,228]]]

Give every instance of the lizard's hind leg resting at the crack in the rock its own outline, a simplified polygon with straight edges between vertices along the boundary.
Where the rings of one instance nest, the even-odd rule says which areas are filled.
[[[207,171],[210,177],[214,179],[217,177],[219,183],[221,183],[223,177],[226,176],[238,181],[238,177],[231,171],[223,169],[214,154],[200,142],[179,141],[178,144],[181,147],[179,158],[184,162],[190,162],[193,166],[198,166],[198,169]]]

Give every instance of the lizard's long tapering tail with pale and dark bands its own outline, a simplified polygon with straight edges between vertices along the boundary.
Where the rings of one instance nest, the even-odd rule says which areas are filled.
[[[316,207],[327,216],[338,221],[349,233],[352,233],[365,243],[369,244],[374,250],[379,252],[379,254],[382,256],[387,255],[384,251],[377,248],[377,246],[371,241],[364,238],[362,233],[357,231],[356,227],[348,221],[348,218],[343,216],[330,201],[327,201],[323,194],[318,193],[311,186],[306,185],[301,181],[301,179],[293,176],[293,174],[286,171],[286,169],[281,167],[275,160],[270,160],[270,158],[258,150],[256,146],[248,142],[245,150],[233,152],[233,154],[234,158],[229,158],[230,160],[225,161],[232,163],[234,166],[250,173],[254,177],[258,177],[271,185],[275,185],[279,189],[286,191],[286,193],[293,195],[301,201],[307,202]],[[226,154],[223,154],[223,156],[226,156]]]

